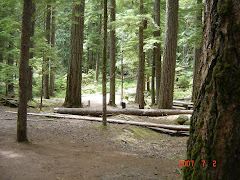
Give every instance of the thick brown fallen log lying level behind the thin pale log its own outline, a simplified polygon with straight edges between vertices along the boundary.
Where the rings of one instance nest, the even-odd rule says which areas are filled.
[[[101,116],[102,109],[90,108],[54,108],[54,112],[61,114]],[[179,109],[108,109],[107,114],[126,114],[137,116],[166,116],[176,114],[192,114],[192,110]]]

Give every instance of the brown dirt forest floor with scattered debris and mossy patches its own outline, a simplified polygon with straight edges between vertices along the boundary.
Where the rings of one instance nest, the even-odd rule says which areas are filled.
[[[92,106],[99,107],[91,101]],[[48,112],[53,107],[44,108]],[[185,159],[186,136],[130,125],[103,127],[98,122],[28,116],[29,143],[16,143],[17,115],[6,111],[17,109],[0,106],[1,180],[178,180],[182,177],[178,164]],[[176,116],[113,118],[172,124]]]

